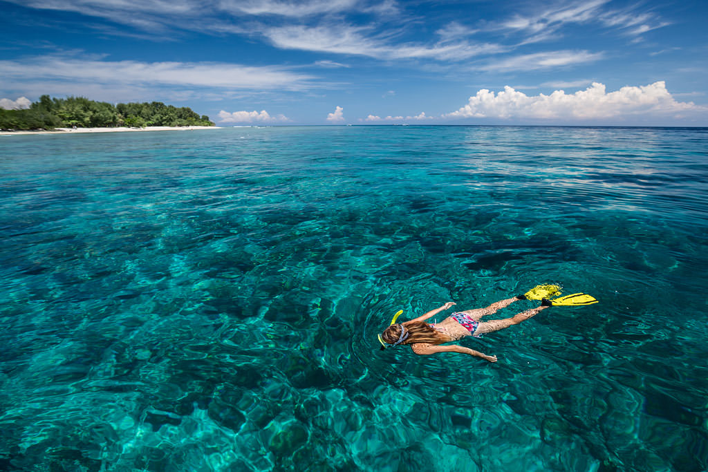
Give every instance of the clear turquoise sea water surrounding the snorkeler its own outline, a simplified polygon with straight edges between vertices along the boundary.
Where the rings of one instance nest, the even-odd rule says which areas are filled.
[[[708,129],[0,137],[0,468],[705,470],[707,217]]]

